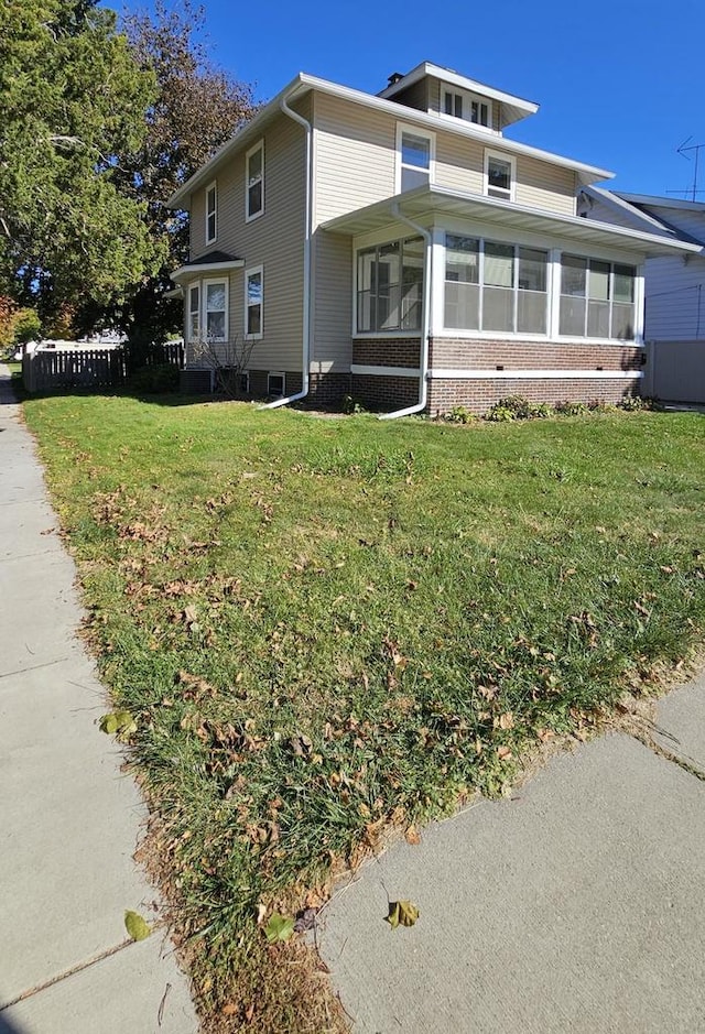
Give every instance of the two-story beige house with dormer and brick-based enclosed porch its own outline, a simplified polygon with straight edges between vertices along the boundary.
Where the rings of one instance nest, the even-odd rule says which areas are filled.
[[[170,199],[191,215],[186,377],[395,412],[638,391],[643,263],[693,253],[581,218],[605,170],[505,137],[538,106],[423,63],[377,96],[300,74]]]

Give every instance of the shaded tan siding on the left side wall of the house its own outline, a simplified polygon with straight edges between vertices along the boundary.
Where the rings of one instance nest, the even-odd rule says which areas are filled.
[[[310,107],[307,104],[306,107]],[[303,253],[305,218],[305,134],[278,115],[265,127],[264,213],[245,217],[245,155],[249,146],[218,171],[218,236],[205,242],[205,188],[192,197],[192,258],[218,249],[245,259],[245,270],[229,275],[229,336],[245,335],[245,272],[263,266],[263,338],[254,345],[251,366],[301,370],[303,333]],[[256,143],[251,141],[250,143]]]

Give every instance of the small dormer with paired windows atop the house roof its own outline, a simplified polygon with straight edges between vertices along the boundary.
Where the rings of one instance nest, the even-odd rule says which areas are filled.
[[[422,62],[403,75],[394,72],[378,94],[386,100],[437,115],[441,119],[470,122],[488,133],[501,135],[507,126],[535,115],[539,105],[512,94],[468,79],[467,76]]]

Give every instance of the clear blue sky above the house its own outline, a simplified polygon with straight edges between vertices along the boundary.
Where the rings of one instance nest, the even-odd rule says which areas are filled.
[[[676,149],[705,144],[703,0],[260,0],[249,20],[232,0],[204,7],[215,62],[261,100],[297,72],[377,92],[390,73],[432,61],[536,101],[507,135],[608,168],[616,189],[693,186],[695,163]],[[705,200],[705,148],[698,181]]]

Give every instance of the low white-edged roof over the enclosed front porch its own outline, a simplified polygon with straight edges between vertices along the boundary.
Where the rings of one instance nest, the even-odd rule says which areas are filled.
[[[648,233],[642,230],[628,229],[608,222],[598,222],[595,219],[584,219],[581,216],[562,215],[561,213],[541,211],[505,202],[481,194],[469,194],[462,191],[452,191],[447,187],[421,186],[395,197],[386,198],[365,208],[337,216],[322,225],[324,230],[357,237],[372,230],[382,229],[397,221],[395,208],[402,216],[430,226],[438,215],[454,216],[456,218],[474,219],[494,226],[508,226],[514,229],[543,233],[550,237],[562,237],[575,240],[583,244],[596,244],[611,248],[622,248],[638,252],[641,255],[663,255],[676,252],[697,252],[695,244],[682,240],[674,240],[663,235]]]

